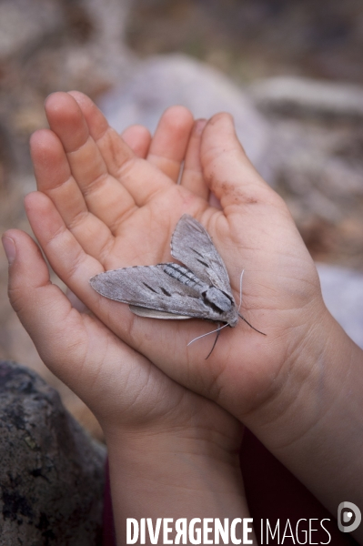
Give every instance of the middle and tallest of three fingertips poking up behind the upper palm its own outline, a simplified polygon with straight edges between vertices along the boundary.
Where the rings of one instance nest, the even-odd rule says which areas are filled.
[[[147,160],[177,182],[186,157],[193,115],[185,106],[167,108],[156,127]]]

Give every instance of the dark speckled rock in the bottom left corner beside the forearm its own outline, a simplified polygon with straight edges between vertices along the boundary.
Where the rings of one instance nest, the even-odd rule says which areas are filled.
[[[35,372],[0,361],[0,545],[100,544],[106,450]]]

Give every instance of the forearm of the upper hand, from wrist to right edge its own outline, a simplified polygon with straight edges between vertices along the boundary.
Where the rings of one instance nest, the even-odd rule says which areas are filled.
[[[363,351],[328,311],[299,349],[278,394],[245,422],[331,513],[345,499],[362,506]]]

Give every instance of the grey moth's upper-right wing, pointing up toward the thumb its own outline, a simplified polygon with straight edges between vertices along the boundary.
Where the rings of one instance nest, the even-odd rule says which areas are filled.
[[[226,292],[233,300],[227,268],[207,230],[196,218],[183,215],[171,238],[171,255],[198,278]]]

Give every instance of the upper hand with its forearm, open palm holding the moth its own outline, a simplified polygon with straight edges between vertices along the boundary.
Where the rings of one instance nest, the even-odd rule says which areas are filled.
[[[136,157],[85,96],[56,94],[45,109],[52,132],[46,146],[39,134],[33,139],[39,192],[25,207],[55,272],[106,326],[107,339],[126,342],[168,378],[247,424],[332,513],[345,499],[363,506],[363,353],[328,313],[287,207],[249,163],[231,117],[209,120],[193,177],[177,186],[177,162],[166,160],[160,169],[153,153],[150,161]],[[221,209],[210,206],[210,192]],[[170,238],[184,213],[207,228],[236,298],[245,269],[241,312],[267,333],[242,322],[224,329],[207,362],[210,339],[187,347],[210,329],[207,323],[138,318],[87,282],[106,269],[169,261]],[[20,238],[23,248],[31,246],[19,232],[7,237],[16,248]],[[90,337],[84,334],[78,350]],[[42,354],[42,339],[35,344]],[[81,382],[74,369],[58,375],[72,388]]]

